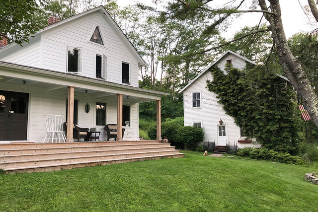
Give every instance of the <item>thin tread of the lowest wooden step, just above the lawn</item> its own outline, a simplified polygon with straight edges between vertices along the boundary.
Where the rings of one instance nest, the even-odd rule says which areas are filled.
[[[141,156],[141,157],[131,157],[131,158],[116,158],[116,159],[94,160],[94,161],[82,161],[82,162],[49,164],[49,165],[39,165],[39,166],[25,166],[25,167],[16,167],[16,168],[7,168],[7,169],[4,168],[4,170],[12,171],[12,170],[22,170],[22,169],[34,169],[34,168],[45,168],[45,167],[54,167],[54,166],[76,165],[76,164],[82,164],[82,163],[96,163],[96,162],[116,161],[116,160],[129,160],[129,159],[139,159],[139,158],[163,157],[163,156],[171,156],[171,155],[184,155],[184,153],[162,154],[162,155]]]

